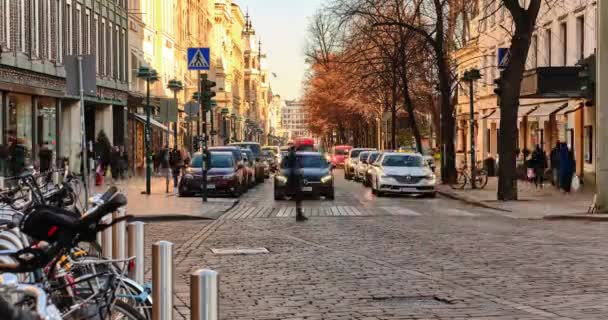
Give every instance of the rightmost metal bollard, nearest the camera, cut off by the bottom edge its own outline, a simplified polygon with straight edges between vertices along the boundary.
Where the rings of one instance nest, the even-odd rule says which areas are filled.
[[[218,320],[220,314],[219,274],[209,269],[190,274],[190,319]]]

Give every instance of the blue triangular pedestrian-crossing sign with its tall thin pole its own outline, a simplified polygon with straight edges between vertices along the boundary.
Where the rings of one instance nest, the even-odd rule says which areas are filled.
[[[207,202],[207,113],[203,105],[203,89],[207,83],[207,74],[203,75],[201,71],[210,70],[210,56],[209,48],[188,48],[188,70],[198,71],[198,104],[201,106],[198,109],[198,118],[203,117],[203,202]]]

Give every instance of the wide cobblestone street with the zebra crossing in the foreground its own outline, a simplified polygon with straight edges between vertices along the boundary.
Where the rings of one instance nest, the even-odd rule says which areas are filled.
[[[442,198],[363,201],[368,191],[343,180],[335,203],[307,202],[308,214],[319,216],[296,223],[289,203],[265,200],[271,187],[259,186],[219,220],[147,226],[148,250],[157,240],[175,243],[177,319],[189,318],[189,274],[203,267],[221,274],[222,319],[603,319],[608,312],[602,224],[511,219]],[[211,252],[239,247],[270,253]]]

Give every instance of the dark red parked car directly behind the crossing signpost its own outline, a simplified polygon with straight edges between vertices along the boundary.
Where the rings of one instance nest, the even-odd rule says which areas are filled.
[[[191,166],[186,168],[179,182],[180,197],[202,192],[203,171],[202,153],[192,157]],[[243,192],[243,176],[240,170],[242,164],[237,164],[231,152],[210,152],[209,168],[207,170],[208,194],[227,194],[239,197]]]

